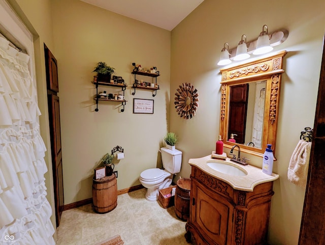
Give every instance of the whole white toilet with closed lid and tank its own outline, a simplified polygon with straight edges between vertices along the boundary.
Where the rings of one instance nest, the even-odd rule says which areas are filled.
[[[161,161],[165,168],[149,168],[140,174],[140,183],[147,188],[146,199],[148,201],[158,200],[158,191],[167,188],[173,181],[173,176],[179,173],[182,164],[182,151],[171,150],[166,147],[160,149]]]

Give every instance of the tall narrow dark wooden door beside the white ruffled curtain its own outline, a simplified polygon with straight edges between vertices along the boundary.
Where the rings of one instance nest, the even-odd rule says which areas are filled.
[[[58,91],[57,61],[51,51],[44,44],[46,62],[46,80],[48,94],[48,110],[51,134],[52,169],[55,198],[56,226],[60,224],[60,218],[64,207],[63,196],[63,171],[62,148],[60,129],[60,107]]]

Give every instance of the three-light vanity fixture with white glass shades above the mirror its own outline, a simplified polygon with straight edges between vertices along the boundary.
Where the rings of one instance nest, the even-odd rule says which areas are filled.
[[[268,26],[263,25],[262,32],[253,41],[246,42],[246,35],[242,35],[242,39],[236,48],[229,49],[228,43],[224,43],[218,66],[228,65],[232,60],[244,60],[249,58],[250,54],[260,55],[270,52],[274,46],[283,43],[288,35],[289,32],[286,29],[278,29],[269,35]]]

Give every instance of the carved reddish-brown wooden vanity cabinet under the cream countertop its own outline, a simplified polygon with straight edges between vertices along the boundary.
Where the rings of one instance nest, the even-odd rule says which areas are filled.
[[[253,192],[233,189],[192,166],[185,238],[196,244],[267,244],[273,181]]]

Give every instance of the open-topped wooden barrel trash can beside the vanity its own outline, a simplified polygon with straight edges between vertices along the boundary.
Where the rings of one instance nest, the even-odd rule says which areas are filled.
[[[180,178],[177,180],[175,193],[175,213],[176,216],[183,221],[187,221],[187,218],[189,217],[190,190],[190,178]]]

